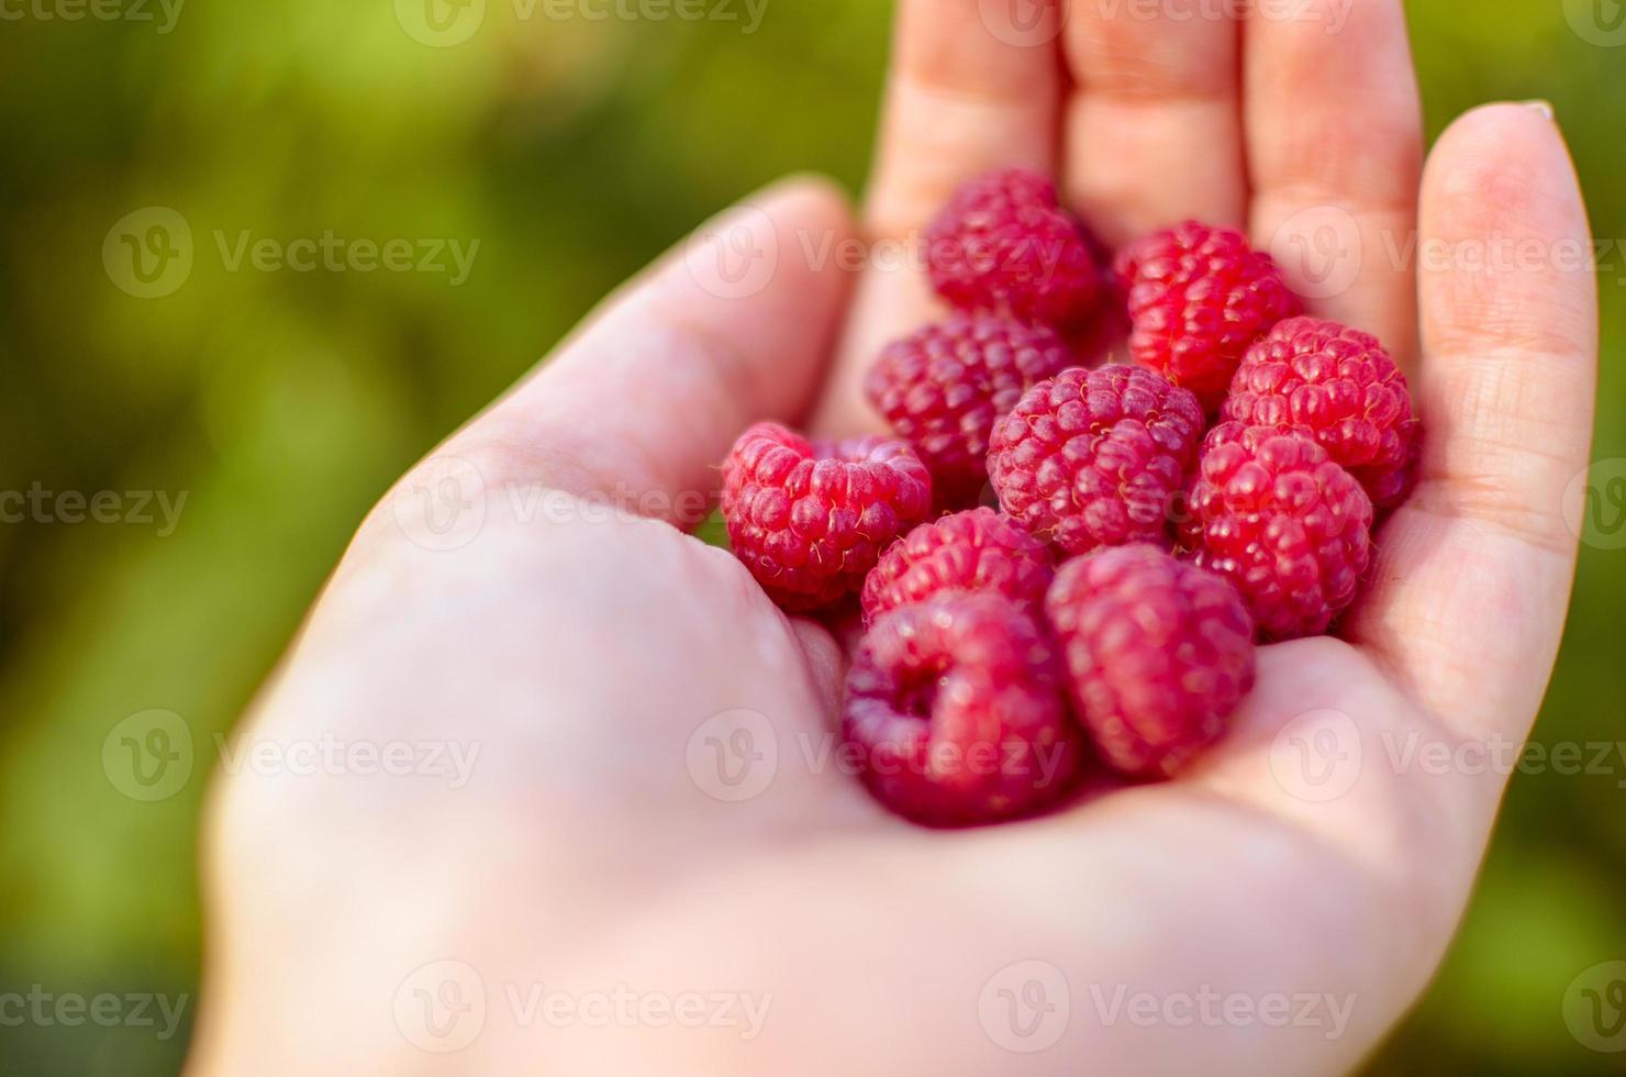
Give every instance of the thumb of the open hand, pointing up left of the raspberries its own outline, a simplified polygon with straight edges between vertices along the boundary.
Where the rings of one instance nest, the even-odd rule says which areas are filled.
[[[806,408],[847,290],[837,252],[850,242],[833,187],[771,187],[611,296],[437,457],[473,462],[486,490],[611,496],[696,522],[733,438]]]

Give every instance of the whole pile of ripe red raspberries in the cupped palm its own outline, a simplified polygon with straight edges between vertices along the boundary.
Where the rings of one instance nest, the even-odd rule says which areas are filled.
[[[789,612],[857,595],[842,737],[899,815],[990,823],[1093,773],[1169,778],[1224,735],[1255,643],[1354,600],[1411,482],[1406,379],[1301,317],[1239,231],[1190,221],[1107,270],[1031,172],[964,185],[927,254],[954,312],[865,384],[894,436],[748,429],[724,464],[735,555]],[[1114,322],[1130,361],[1081,361]]]

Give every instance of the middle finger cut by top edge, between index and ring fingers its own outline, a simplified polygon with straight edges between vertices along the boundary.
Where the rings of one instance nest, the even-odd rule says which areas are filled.
[[[1234,5],[1145,7],[1072,0],[1065,31],[1065,187],[1112,246],[1247,205]]]

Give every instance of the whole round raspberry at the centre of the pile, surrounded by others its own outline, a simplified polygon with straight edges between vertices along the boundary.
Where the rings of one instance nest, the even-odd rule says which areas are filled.
[[[1011,519],[1068,553],[1167,545],[1167,509],[1202,431],[1197,397],[1161,376],[1075,368],[993,426],[989,477]]]

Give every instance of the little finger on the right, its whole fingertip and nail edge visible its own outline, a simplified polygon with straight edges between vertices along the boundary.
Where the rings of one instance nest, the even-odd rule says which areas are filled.
[[[1470,112],[1423,182],[1418,488],[1351,621],[1442,721],[1524,735],[1576,568],[1563,491],[1587,467],[1597,285],[1545,107]]]

